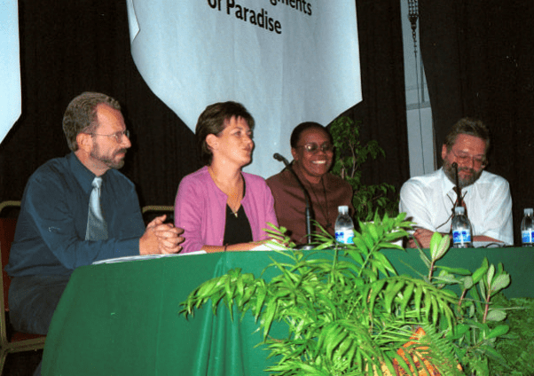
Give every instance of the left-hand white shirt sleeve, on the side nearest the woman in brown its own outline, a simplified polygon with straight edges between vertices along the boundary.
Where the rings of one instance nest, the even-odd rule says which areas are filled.
[[[428,200],[419,184],[410,180],[403,184],[400,192],[398,211],[406,213],[406,219],[417,223],[419,227],[430,231],[437,231],[432,225],[432,218],[428,211]]]

